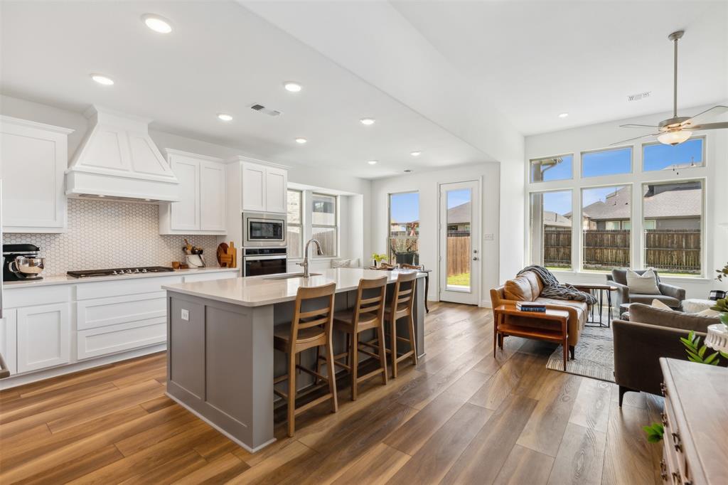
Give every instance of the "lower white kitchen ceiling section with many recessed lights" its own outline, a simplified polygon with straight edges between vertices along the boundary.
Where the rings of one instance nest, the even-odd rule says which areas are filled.
[[[364,178],[487,161],[232,1],[3,1],[1,9],[5,95],[79,112],[97,103],[154,119],[157,130]],[[170,19],[173,33],[146,28],[146,12]],[[90,73],[116,84],[100,86]],[[304,90],[285,91],[288,80]],[[283,114],[258,113],[253,103]],[[218,121],[219,112],[234,121]],[[362,117],[377,122],[365,127]],[[298,145],[298,136],[309,142]],[[413,150],[422,156],[411,157]]]

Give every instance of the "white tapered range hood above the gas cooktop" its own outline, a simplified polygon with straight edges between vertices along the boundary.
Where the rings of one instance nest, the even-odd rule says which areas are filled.
[[[150,119],[92,106],[93,127],[66,170],[68,197],[177,202],[178,181],[149,137]]]

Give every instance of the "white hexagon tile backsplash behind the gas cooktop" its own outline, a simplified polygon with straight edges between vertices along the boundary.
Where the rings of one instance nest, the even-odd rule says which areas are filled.
[[[31,243],[46,259],[44,275],[76,269],[170,266],[184,261],[182,246],[204,248],[205,261],[217,266],[216,236],[159,234],[157,205],[68,199],[68,232],[4,234],[4,244]]]

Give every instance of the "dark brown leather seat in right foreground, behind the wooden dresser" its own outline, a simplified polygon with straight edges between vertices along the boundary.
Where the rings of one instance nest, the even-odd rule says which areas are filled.
[[[636,303],[630,306],[630,321],[612,320],[614,332],[614,382],[620,387],[620,406],[628,391],[659,395],[662,383],[660,357],[688,360],[680,337],[690,331],[705,342],[708,326],[717,318],[690,315]],[[708,349],[713,353],[715,350]],[[721,358],[721,365],[727,360]]]

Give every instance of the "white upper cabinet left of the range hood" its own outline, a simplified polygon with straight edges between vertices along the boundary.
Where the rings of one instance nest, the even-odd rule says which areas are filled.
[[[63,173],[73,131],[0,116],[4,232],[66,232]]]

